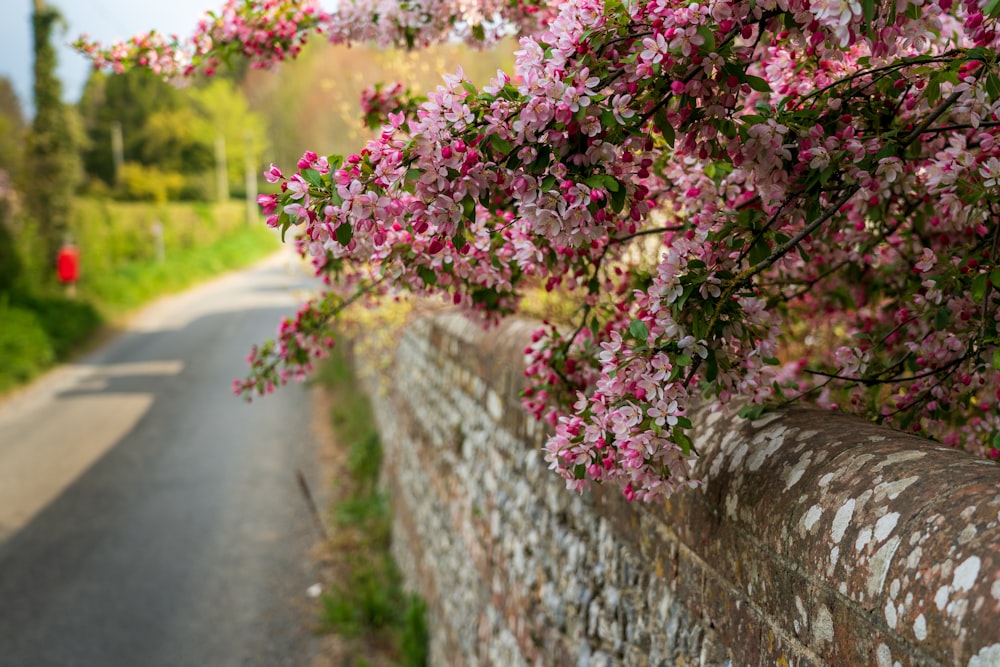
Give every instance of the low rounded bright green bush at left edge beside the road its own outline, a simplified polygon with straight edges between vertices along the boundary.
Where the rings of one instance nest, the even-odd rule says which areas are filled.
[[[0,302],[0,391],[39,375],[52,365],[55,356],[34,313]]]

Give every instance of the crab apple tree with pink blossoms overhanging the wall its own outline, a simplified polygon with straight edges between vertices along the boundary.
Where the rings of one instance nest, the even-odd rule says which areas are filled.
[[[239,391],[304,375],[359,299],[441,294],[493,321],[542,284],[579,304],[537,333],[525,392],[571,488],[693,484],[699,398],[748,417],[812,400],[1000,454],[1000,1],[383,10],[231,2],[192,42],[211,48],[81,45],[191,73],[280,61],[313,29],[412,47],[453,26],[489,40],[503,23],[477,17],[500,16],[525,33],[513,76],[378,95],[361,151],[269,170],[269,223],[300,226],[333,287]]]

